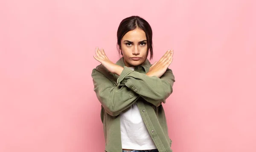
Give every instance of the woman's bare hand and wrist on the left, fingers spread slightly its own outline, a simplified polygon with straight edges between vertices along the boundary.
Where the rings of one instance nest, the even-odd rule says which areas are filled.
[[[108,57],[106,56],[103,48],[101,50],[99,50],[99,48],[97,47],[95,49],[95,53],[96,55],[93,55],[94,59],[96,59],[97,61],[99,61],[105,68],[107,68],[111,73],[114,74],[120,74],[120,70],[122,72],[122,67],[119,65],[114,64],[112,61],[110,61],[108,59]]]

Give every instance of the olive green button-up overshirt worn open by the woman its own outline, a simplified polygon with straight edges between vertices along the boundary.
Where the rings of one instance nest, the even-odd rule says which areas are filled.
[[[148,59],[134,70],[125,66],[123,57],[116,65],[124,67],[120,76],[109,72],[103,65],[92,71],[94,91],[102,104],[106,152],[122,152],[119,114],[132,104],[137,104],[145,126],[159,152],[172,152],[166,116],[162,103],[172,93],[175,82],[172,70],[158,78],[147,76],[151,67]]]

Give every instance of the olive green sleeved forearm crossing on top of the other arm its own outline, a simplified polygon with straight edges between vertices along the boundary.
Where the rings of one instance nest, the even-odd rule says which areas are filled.
[[[170,74],[169,71],[167,74]],[[130,88],[151,104],[159,106],[172,93],[174,78],[172,79],[171,75],[166,78],[167,74],[163,75],[163,79],[160,79],[157,76],[148,76],[124,68],[117,82],[119,85],[125,85]]]

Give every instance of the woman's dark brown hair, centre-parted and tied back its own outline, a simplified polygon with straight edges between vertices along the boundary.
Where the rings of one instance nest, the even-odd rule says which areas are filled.
[[[146,20],[139,16],[131,16],[122,20],[117,29],[117,50],[122,54],[121,51],[121,39],[128,32],[135,30],[136,28],[142,29],[147,38],[147,47],[150,50],[150,59],[153,58],[153,43],[152,43],[152,29]],[[147,51],[148,56],[148,51]]]

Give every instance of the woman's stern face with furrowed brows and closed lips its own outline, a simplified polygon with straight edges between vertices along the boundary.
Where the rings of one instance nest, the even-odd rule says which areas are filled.
[[[147,58],[147,38],[145,32],[136,28],[128,31],[121,39],[121,51],[125,66],[141,65]]]

